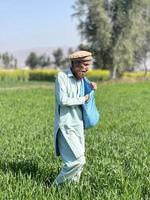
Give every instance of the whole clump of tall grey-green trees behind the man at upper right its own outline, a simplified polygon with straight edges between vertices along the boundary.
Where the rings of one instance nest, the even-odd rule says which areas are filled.
[[[111,78],[132,70],[150,51],[149,0],[76,0],[73,16],[91,50],[97,68],[109,69]]]

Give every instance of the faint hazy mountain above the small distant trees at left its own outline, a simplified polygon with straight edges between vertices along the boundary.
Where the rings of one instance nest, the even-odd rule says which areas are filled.
[[[37,55],[45,54],[47,56],[50,56],[51,61],[53,61],[53,51],[61,48],[64,52],[64,55],[67,56],[67,52],[69,47],[63,46],[63,47],[36,47],[31,49],[22,49],[22,50],[16,50],[16,51],[7,51],[9,54],[12,54],[14,57],[17,58],[18,61],[18,67],[22,68],[25,66],[25,60],[28,57],[28,55],[31,52],[35,52]],[[71,47],[72,49],[75,49],[74,47]],[[6,52],[6,51],[5,51]],[[1,53],[4,53],[1,51]]]

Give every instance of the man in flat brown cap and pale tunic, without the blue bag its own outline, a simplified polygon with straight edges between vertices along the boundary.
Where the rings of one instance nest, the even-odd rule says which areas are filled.
[[[55,82],[55,150],[64,166],[54,184],[65,181],[78,182],[85,164],[84,125],[81,105],[88,95],[80,96],[81,80],[92,63],[88,51],[76,51],[70,55],[71,68],[59,72]],[[96,89],[96,83],[91,83]]]

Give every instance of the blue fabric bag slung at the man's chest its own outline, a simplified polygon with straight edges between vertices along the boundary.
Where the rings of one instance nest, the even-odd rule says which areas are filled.
[[[100,114],[96,108],[94,90],[91,87],[90,81],[87,78],[82,79],[80,96],[89,95],[88,101],[82,105],[82,114],[84,128],[91,128],[95,126],[99,119]]]

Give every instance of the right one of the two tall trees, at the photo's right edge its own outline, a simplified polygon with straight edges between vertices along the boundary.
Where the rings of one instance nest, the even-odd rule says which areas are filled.
[[[123,5],[123,0],[120,2]],[[149,1],[132,0],[128,1],[124,7],[126,15],[122,16],[123,9],[118,12],[120,24],[123,26],[113,48],[113,78],[116,76],[117,69],[123,71],[126,66],[135,65],[135,52],[144,46],[149,30],[148,15],[146,14],[150,10]]]

